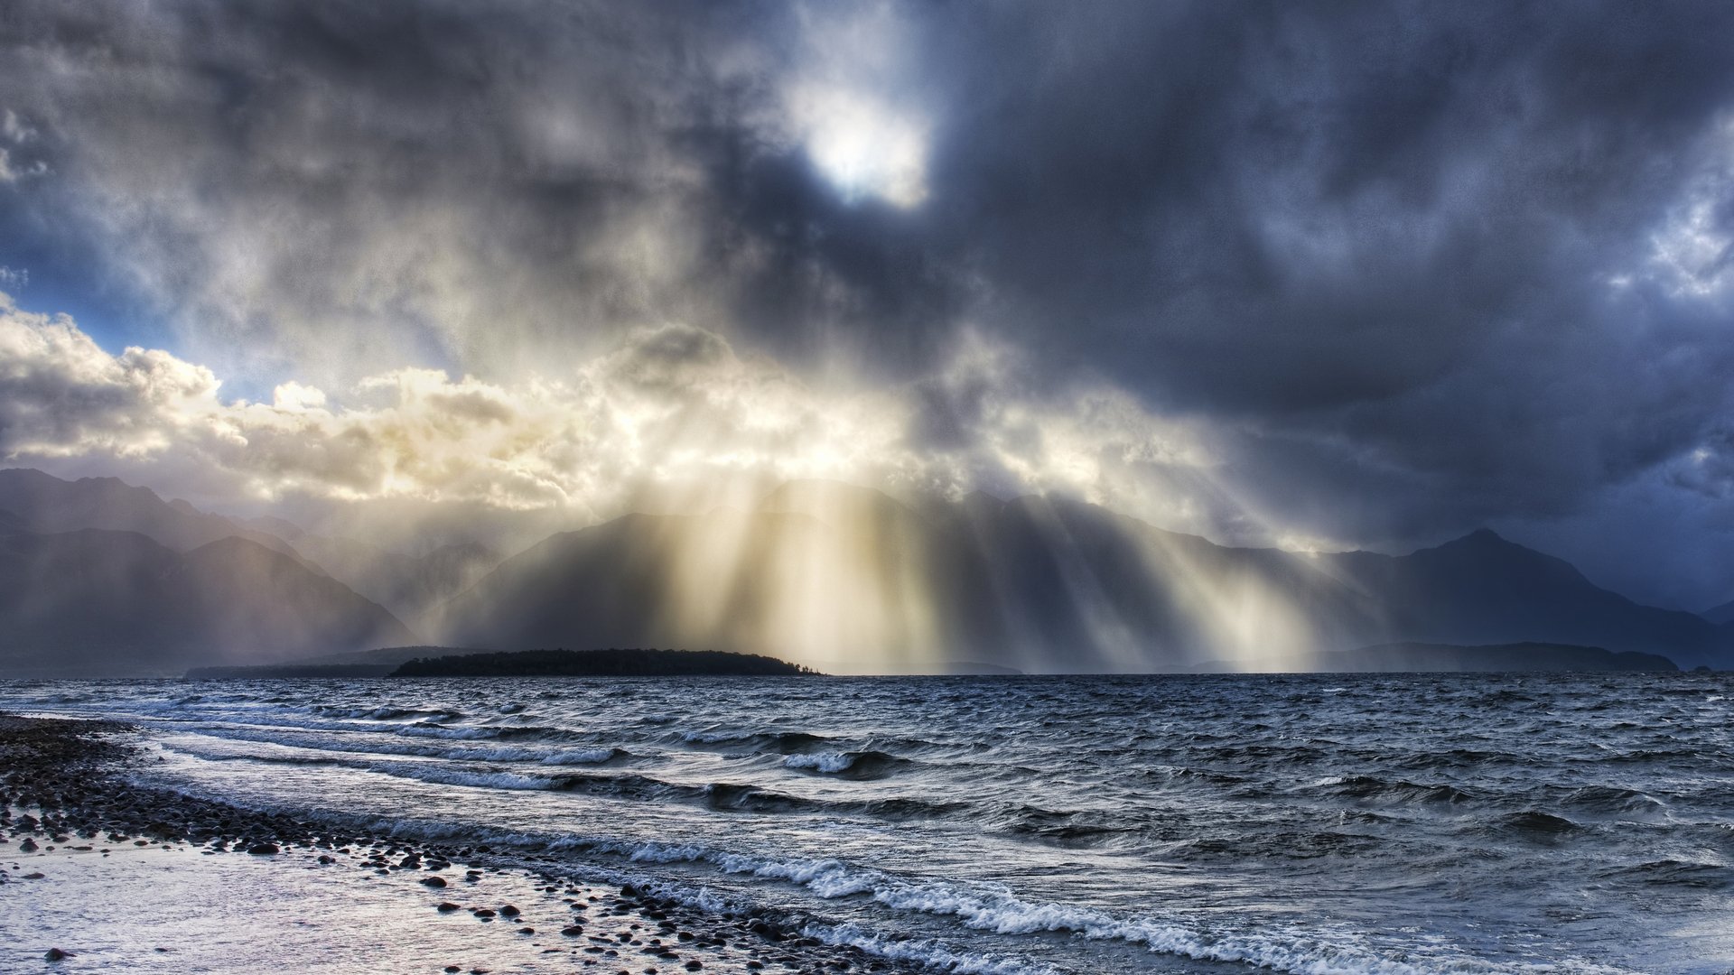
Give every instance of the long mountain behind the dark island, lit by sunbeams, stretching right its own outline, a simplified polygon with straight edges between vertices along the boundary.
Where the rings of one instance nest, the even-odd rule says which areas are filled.
[[[1731,633],[1491,531],[1408,555],[1231,548],[1096,505],[910,508],[796,482],[754,510],[557,534],[446,604],[449,644],[692,645],[822,670],[1311,670],[1368,644],[1581,644],[1727,666]]]

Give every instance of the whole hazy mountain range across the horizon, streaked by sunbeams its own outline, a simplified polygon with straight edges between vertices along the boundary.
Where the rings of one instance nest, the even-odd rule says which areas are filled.
[[[959,661],[1309,670],[1399,642],[1734,663],[1734,625],[1639,605],[1491,531],[1408,555],[1297,553],[1063,498],[910,505],[834,482],[784,484],[747,510],[629,514],[501,560],[473,543],[388,552],[114,479],[14,468],[0,470],[0,586],[9,677],[170,673],[428,638],[727,649],[893,673]]]

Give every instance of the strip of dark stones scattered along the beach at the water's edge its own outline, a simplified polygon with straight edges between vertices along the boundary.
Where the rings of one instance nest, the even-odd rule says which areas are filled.
[[[740,939],[742,928],[751,921],[739,916],[732,919],[709,916],[702,909],[688,907],[662,895],[661,892],[655,892],[655,888],[638,883],[626,883],[614,888],[619,890],[619,893],[614,893],[609,888],[591,887],[572,876],[565,876],[555,857],[529,857],[529,860],[548,864],[543,867],[494,866],[492,862],[475,864],[470,860],[470,855],[486,854],[486,850],[458,850],[439,843],[416,845],[420,848],[411,848],[413,843],[406,843],[397,836],[369,838],[366,834],[352,836],[342,831],[333,833],[333,829],[349,829],[350,826],[321,822],[312,815],[302,819],[298,815],[246,810],[231,807],[220,800],[177,793],[170,788],[151,786],[139,781],[123,781],[106,772],[109,769],[123,767],[127,758],[135,758],[135,748],[123,744],[125,739],[116,743],[114,739],[120,736],[106,734],[113,730],[121,730],[121,727],[113,725],[111,722],[26,720],[0,715],[0,791],[29,796],[28,800],[21,798],[12,803],[14,808],[5,808],[10,796],[0,795],[0,800],[5,800],[0,802],[0,812],[5,814],[0,819],[3,819],[7,829],[14,833],[12,841],[16,847],[10,847],[12,850],[35,854],[35,850],[38,850],[36,843],[29,836],[21,836],[26,831],[35,831],[36,836],[54,838],[62,843],[76,843],[76,840],[73,840],[75,836],[94,838],[99,834],[106,834],[108,841],[116,845],[128,843],[134,836],[154,838],[137,840],[139,848],[123,847],[116,850],[116,860],[147,857],[154,862],[161,852],[187,850],[189,847],[182,847],[182,843],[191,845],[192,850],[201,852],[206,857],[217,857],[218,852],[225,850],[244,850],[258,857],[257,866],[243,867],[241,864],[246,864],[250,857],[241,857],[239,860],[229,860],[232,864],[229,867],[210,869],[269,871],[271,876],[281,874],[281,871],[291,864],[312,869],[316,862],[319,866],[329,866],[342,860],[343,864],[354,864],[362,869],[317,871],[309,876],[317,876],[321,880],[310,880],[310,883],[329,883],[335,888],[354,888],[357,881],[366,881],[362,887],[392,887],[402,893],[402,907],[406,911],[414,911],[425,918],[425,921],[418,923],[442,925],[440,930],[446,932],[442,937],[463,939],[458,944],[473,944],[477,949],[494,946],[489,951],[517,951],[522,954],[536,952],[538,956],[548,954],[550,959],[555,961],[557,958],[553,956],[569,954],[574,956],[570,961],[579,963],[581,968],[584,965],[603,963],[600,970],[612,970],[624,965],[628,952],[643,952],[645,956],[650,956],[645,958],[645,961],[655,961],[661,965],[659,970],[664,973],[680,966],[692,972],[763,970],[763,965],[751,958],[756,954],[753,947],[747,947],[744,940],[737,946],[730,946],[728,939],[723,937],[730,935],[730,939]],[[73,744],[59,749],[61,746],[57,741]],[[59,751],[55,753],[50,749]],[[49,758],[50,755],[52,760]],[[31,791],[21,793],[21,786],[29,786]],[[40,805],[38,800],[43,798],[47,800],[47,805],[42,805],[40,808],[42,819],[35,819],[17,808],[17,805],[26,803],[31,807]],[[36,810],[33,808],[31,812]],[[128,833],[132,836],[128,836]],[[54,852],[43,852],[42,857],[50,857],[54,862],[59,862],[59,857],[78,857],[81,852],[88,852],[92,854],[92,862],[97,862],[94,850],[88,845],[68,845],[62,848],[50,847],[50,850]],[[108,854],[109,848],[104,847],[102,852]],[[401,874],[406,878],[404,881],[388,880],[390,876],[395,876],[390,871],[387,871],[387,876],[357,876],[357,873],[368,874],[371,869],[378,869],[381,866],[392,866],[402,871],[409,871],[416,866],[427,871],[451,869],[454,859],[460,862],[470,860],[463,864],[468,867],[465,880],[489,885],[494,897],[492,907],[475,906],[470,907],[472,914],[480,921],[512,919],[520,926],[512,928],[510,932],[503,930],[506,925],[461,925],[453,928],[449,926],[449,919],[444,916],[463,911],[463,906],[449,900],[430,904],[425,895],[414,893],[416,885],[421,885],[423,890],[442,890],[451,887],[456,880],[454,876],[440,878],[434,873],[423,874],[420,869],[416,873]],[[146,860],[137,859],[134,862],[142,864]],[[201,869],[206,869],[198,864],[215,862],[218,860],[189,857],[182,860],[184,866],[170,869],[189,871],[196,880],[196,874]],[[19,876],[16,873],[17,866],[9,866],[14,869],[14,873],[9,874],[12,880],[45,880],[40,871]],[[55,871],[55,881],[62,880],[62,871]],[[407,883],[407,880],[414,880],[416,883]],[[7,874],[0,874],[0,883],[5,881]],[[522,881],[539,887],[525,890],[520,887]],[[562,893],[567,897],[562,899]],[[506,897],[512,897],[517,904],[503,904]],[[593,913],[588,911],[586,902],[595,904]],[[430,906],[442,916],[439,921],[425,916],[425,911]],[[579,913],[577,919],[583,919],[584,923],[567,923],[574,919],[567,911]],[[541,918],[541,930],[538,926],[531,926],[529,923],[538,918]],[[553,926],[548,928],[548,923]],[[786,968],[791,970],[820,972],[865,968],[912,972],[912,968],[903,965],[886,965],[879,959],[869,961],[857,949],[808,944],[806,939],[794,937],[794,932],[799,928],[791,928],[789,925],[777,923],[775,919],[759,921],[759,925],[765,932],[773,932],[766,935],[768,940],[784,940],[784,949],[799,946],[799,956],[787,956],[794,961],[794,965],[786,965]],[[564,949],[548,947],[550,942],[544,939],[553,932],[558,932],[567,939],[579,940],[577,944],[565,942],[567,947]],[[538,933],[543,933],[543,937],[534,937]],[[49,930],[38,932],[38,937],[43,935],[54,937]],[[591,942],[602,944],[583,947],[583,939],[586,935]],[[406,935],[406,939],[407,937],[409,935]],[[508,940],[492,940],[501,937]],[[676,956],[673,951],[675,939],[680,939],[683,949],[681,956]],[[668,944],[664,944],[664,940]],[[508,949],[506,944],[518,947]],[[406,946],[414,951],[413,939],[399,942],[397,947]],[[432,944],[428,947],[432,947]],[[54,951],[62,954],[49,954],[43,958],[57,961],[59,958],[69,958],[75,954],[66,949]],[[97,949],[83,946],[81,951],[88,954]],[[139,947],[139,951],[149,949]],[[701,958],[694,958],[694,954],[701,954]],[[437,966],[447,959],[451,959],[451,954],[446,954],[437,963],[427,958],[423,963],[427,963],[428,968],[423,970],[437,970]],[[81,966],[83,959],[76,965]],[[506,958],[491,958],[489,966],[496,970],[517,970],[515,963]],[[146,965],[146,968],[154,970],[156,965]],[[468,968],[470,963],[465,963],[463,966],[454,965],[447,970],[463,972]],[[480,966],[477,966],[477,970],[480,970]],[[541,966],[524,970],[544,972]],[[638,966],[633,970],[636,972]]]

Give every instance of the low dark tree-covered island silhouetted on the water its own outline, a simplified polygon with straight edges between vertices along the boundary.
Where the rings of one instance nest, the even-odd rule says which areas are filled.
[[[723,651],[518,651],[413,659],[392,677],[792,677],[818,673],[777,658]]]

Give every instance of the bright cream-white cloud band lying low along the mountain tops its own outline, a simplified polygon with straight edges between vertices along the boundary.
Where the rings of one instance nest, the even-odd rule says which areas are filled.
[[[1202,430],[1108,387],[1035,392],[1030,375],[1014,350],[971,338],[917,383],[827,392],[713,331],[668,324],[512,383],[402,368],[345,396],[288,380],[269,402],[225,402],[205,366],[109,354],[69,317],[0,295],[0,455],[12,461],[194,470],[265,500],[596,517],[647,489],[716,500],[728,484],[829,477],[950,496],[1059,491],[1198,531],[1221,519]]]

